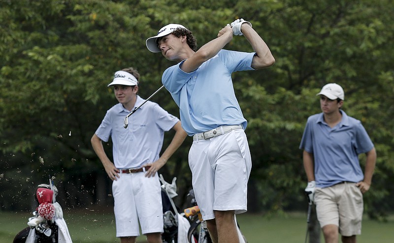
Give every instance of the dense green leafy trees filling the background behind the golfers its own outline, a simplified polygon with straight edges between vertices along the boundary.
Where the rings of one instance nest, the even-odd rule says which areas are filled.
[[[363,123],[377,149],[365,210],[384,218],[394,208],[393,9],[389,0],[0,0],[2,198],[20,197],[55,175],[72,198],[67,207],[111,204],[105,186],[110,181],[90,138],[116,103],[107,88],[113,73],[137,68],[139,94],[146,98],[174,64],[150,53],[146,38],[168,23],[180,23],[193,31],[200,47],[226,24],[244,18],[276,59],[273,67],[233,74],[248,120],[254,183],[249,195],[257,202],[251,210],[282,212],[305,203],[299,142],[308,116],[320,112],[315,94],[336,82],[345,90],[344,110]],[[253,51],[242,36],[234,36],[226,49]],[[167,91],[153,101],[179,115]],[[165,137],[164,146],[170,139]],[[187,139],[163,168],[166,179],[178,177],[181,193],[191,183],[190,144]],[[110,153],[111,143],[104,148]],[[81,188],[87,199],[73,194]],[[1,205],[29,207],[4,199]]]

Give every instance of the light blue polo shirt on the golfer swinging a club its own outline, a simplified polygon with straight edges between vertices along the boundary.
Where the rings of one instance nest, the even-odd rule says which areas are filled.
[[[182,127],[189,136],[221,125],[242,124],[246,128],[231,73],[255,70],[251,67],[254,55],[221,50],[191,73],[182,71],[183,61],[164,71],[163,85],[179,106]]]

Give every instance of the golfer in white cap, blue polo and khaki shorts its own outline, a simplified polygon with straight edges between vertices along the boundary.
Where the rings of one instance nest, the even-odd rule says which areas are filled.
[[[361,234],[362,194],[369,190],[376,151],[359,120],[341,109],[345,94],[338,84],[327,84],[320,95],[322,113],[308,118],[302,135],[305,191],[316,204],[326,243],[356,243]],[[364,173],[359,154],[366,154]]]

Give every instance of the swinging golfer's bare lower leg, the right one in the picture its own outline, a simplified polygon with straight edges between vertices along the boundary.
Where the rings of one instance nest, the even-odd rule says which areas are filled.
[[[234,211],[215,211],[218,243],[239,243]]]

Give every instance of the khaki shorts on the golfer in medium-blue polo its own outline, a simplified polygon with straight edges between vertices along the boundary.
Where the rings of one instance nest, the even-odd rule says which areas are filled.
[[[342,236],[361,234],[363,199],[354,182],[342,182],[315,190],[316,213],[320,226],[339,227]]]

